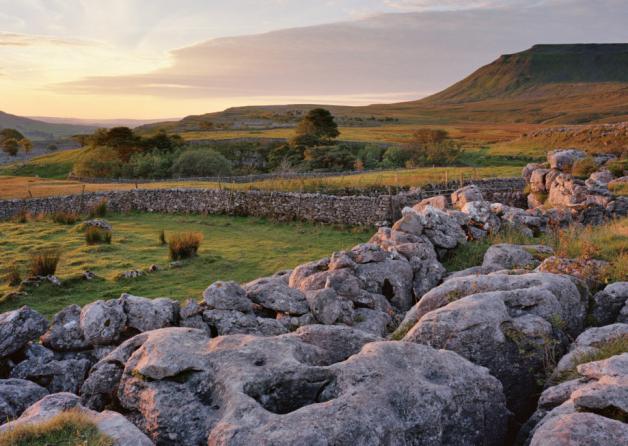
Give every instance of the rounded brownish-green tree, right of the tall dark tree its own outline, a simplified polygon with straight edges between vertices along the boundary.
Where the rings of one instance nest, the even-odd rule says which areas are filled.
[[[421,129],[414,132],[405,149],[417,166],[448,165],[458,160],[464,149],[445,130]]]

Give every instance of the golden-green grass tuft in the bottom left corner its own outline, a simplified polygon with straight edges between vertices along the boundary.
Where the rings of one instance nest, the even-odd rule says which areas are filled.
[[[0,446],[113,446],[111,438],[100,433],[79,411],[69,410],[40,423],[27,423],[0,433]]]

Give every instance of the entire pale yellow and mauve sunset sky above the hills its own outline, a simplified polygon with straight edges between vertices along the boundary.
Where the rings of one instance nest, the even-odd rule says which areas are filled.
[[[627,23],[626,0],[0,0],[0,110],[412,100],[536,43],[628,42]]]

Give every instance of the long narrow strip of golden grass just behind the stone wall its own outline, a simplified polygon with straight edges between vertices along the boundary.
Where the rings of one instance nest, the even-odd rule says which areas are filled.
[[[233,190],[273,190],[287,192],[320,192],[343,188],[412,187],[429,183],[442,183],[445,180],[469,178],[512,177],[521,174],[520,165],[492,167],[423,167],[365,172],[359,175],[338,175],[326,178],[273,179],[252,183],[213,183],[204,181],[164,181],[158,183],[138,183],[140,189],[171,187],[223,188]],[[48,197],[54,195],[80,194],[81,192],[129,190],[135,184],[87,184],[78,181],[43,179],[35,177],[0,176],[0,199]]]

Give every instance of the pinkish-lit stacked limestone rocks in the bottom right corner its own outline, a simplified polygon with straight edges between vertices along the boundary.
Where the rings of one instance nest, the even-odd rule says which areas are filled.
[[[572,370],[547,388],[519,435],[521,444],[625,444],[628,441],[628,326],[592,328],[576,339],[559,364]],[[613,342],[622,349],[608,349]],[[604,349],[604,350],[601,350]],[[563,369],[564,372],[564,369]]]

